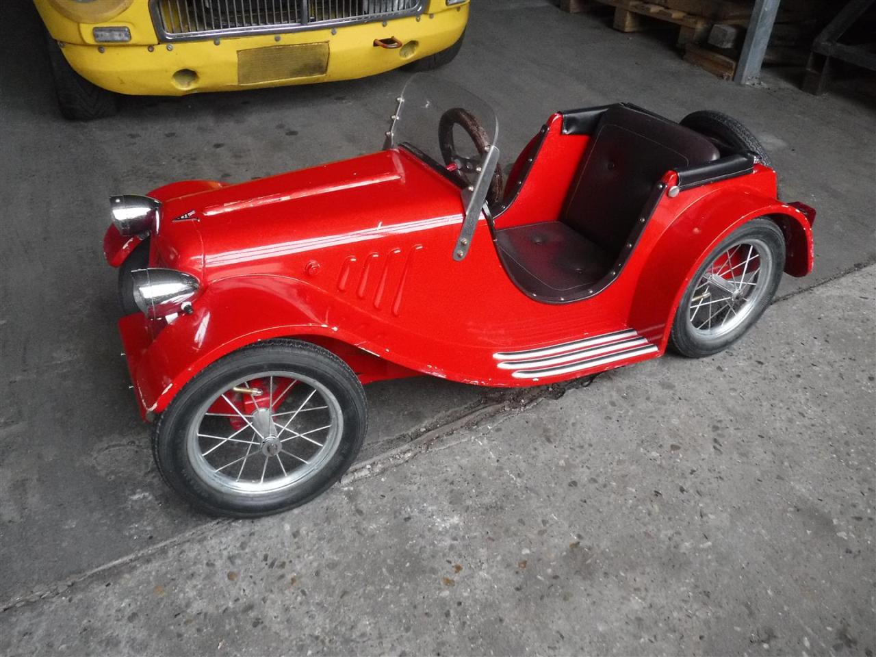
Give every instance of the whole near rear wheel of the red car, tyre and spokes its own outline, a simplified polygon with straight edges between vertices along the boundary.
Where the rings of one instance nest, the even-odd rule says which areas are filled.
[[[717,354],[745,335],[773,300],[785,265],[785,238],[765,217],[718,244],[682,296],[669,336],[676,353]]]

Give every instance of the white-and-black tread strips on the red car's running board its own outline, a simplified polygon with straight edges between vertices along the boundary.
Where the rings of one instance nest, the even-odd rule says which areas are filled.
[[[626,329],[540,349],[498,352],[493,358],[498,361],[499,370],[512,370],[513,378],[534,380],[590,370],[655,351],[656,344]]]

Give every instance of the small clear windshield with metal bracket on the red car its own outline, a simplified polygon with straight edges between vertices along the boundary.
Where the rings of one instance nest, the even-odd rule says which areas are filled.
[[[399,96],[386,148],[406,148],[460,186],[466,209],[454,258],[471,234],[498,165],[498,120],[487,102],[434,74],[414,75]]]

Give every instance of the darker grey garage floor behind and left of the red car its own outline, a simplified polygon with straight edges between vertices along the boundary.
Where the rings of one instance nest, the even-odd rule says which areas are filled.
[[[2,46],[15,65],[0,68],[2,604],[209,522],[159,482],[128,390],[115,272],[101,252],[109,194],[248,180],[369,152],[406,76],[129,98],[118,117],[67,123],[31,4],[4,3],[0,18],[18,25]],[[816,272],[786,278],[782,294],[876,259],[876,101],[854,85],[815,97],[767,72],[762,86],[739,88],[684,63],[659,37],[613,32],[546,0],[477,0],[466,45],[443,74],[494,103],[505,159],[555,109],[625,100],[674,118],[724,110],[767,146],[784,197],[819,210]],[[369,397],[364,457],[502,399],[425,378],[372,386]]]

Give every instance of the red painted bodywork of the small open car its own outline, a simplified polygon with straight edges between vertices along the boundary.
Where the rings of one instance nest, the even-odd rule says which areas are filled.
[[[560,214],[588,142],[562,135],[561,127],[562,117],[551,117],[521,154],[510,178],[521,184],[506,197],[496,227]],[[673,172],[663,177],[668,187],[675,180]],[[788,240],[788,273],[811,270],[808,214],[777,201],[775,189],[772,169],[755,166],[745,176],[664,195],[611,285],[557,305],[512,283],[486,216],[468,256],[453,259],[463,221],[459,188],[403,149],[239,185],[162,187],[150,194],[164,202],[150,265],[193,274],[201,292],[192,314],[171,321],[134,314],[119,322],[141,412],[160,413],[218,358],[276,337],[326,347],[364,383],[429,374],[533,385],[660,356],[696,268],[742,223],[774,218]],[[113,230],[104,244],[117,265],[126,247]],[[653,349],[612,359],[621,353],[611,346],[615,338],[599,336],[620,331]],[[598,357],[577,371],[518,378],[500,365],[508,352],[588,339]],[[568,351],[558,348],[560,362]]]

